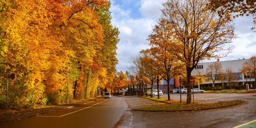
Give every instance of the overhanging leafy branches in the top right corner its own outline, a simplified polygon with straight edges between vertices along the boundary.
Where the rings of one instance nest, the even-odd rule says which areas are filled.
[[[231,19],[232,13],[238,13],[233,18],[244,14],[253,15],[254,26],[251,29],[255,29],[256,5],[254,0],[208,0],[207,6],[210,10],[217,11],[219,16],[225,15],[228,19]]]

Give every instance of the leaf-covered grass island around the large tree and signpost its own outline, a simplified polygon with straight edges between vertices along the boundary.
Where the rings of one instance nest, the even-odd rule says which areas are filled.
[[[179,100],[169,100],[166,102],[171,103],[171,104],[152,106],[152,107],[146,107],[146,108],[137,108],[134,110],[139,110],[139,111],[189,111],[189,110],[194,110],[193,104],[186,104],[185,100],[183,100],[181,103]],[[208,104],[195,103],[195,110],[224,108],[224,107],[228,107],[228,106],[242,104],[244,102],[245,101],[243,101],[243,100],[231,100],[231,101],[220,101],[220,102],[208,103]]]

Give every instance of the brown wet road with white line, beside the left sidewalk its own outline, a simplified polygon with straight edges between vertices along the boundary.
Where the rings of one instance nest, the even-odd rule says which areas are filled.
[[[39,116],[0,124],[1,128],[110,128],[127,112],[128,106],[121,97],[112,96],[96,102],[76,106],[70,109],[46,113]],[[130,122],[126,122],[127,127]]]

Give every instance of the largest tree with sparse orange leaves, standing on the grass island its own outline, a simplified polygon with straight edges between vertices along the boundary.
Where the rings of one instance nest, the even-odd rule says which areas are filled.
[[[163,3],[162,16],[157,34],[166,45],[160,47],[176,55],[186,65],[187,81],[191,78],[191,71],[200,60],[212,57],[226,56],[232,50],[232,43],[236,38],[234,24],[219,16],[217,11],[207,9],[206,0],[168,0]],[[166,36],[170,37],[166,40]],[[226,51],[222,55],[216,54]],[[187,82],[187,104],[191,103],[191,83]]]

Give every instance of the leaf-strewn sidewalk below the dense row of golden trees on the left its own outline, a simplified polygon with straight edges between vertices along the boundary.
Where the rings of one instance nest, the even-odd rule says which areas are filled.
[[[61,105],[47,107],[47,108],[26,110],[26,111],[15,112],[15,113],[5,113],[5,114],[0,115],[0,122],[11,121],[11,120],[19,119],[19,118],[25,118],[25,117],[35,116],[35,115],[44,114],[44,113],[48,113],[48,112],[54,112],[54,111],[58,111],[58,110],[62,110],[62,109],[72,108],[74,106],[79,106],[79,105],[86,104],[89,102],[94,102],[94,101],[97,101],[100,99],[102,99],[102,98],[90,99],[90,100],[86,100],[84,102],[61,104]]]

